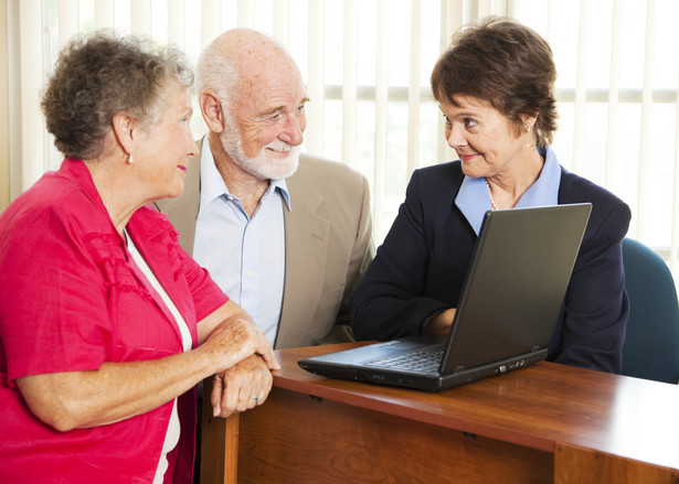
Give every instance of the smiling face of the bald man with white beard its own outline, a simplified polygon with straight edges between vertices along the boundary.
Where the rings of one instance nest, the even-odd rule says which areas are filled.
[[[262,180],[284,179],[297,170],[308,101],[298,69],[265,69],[242,79],[232,111],[223,106],[224,151]]]

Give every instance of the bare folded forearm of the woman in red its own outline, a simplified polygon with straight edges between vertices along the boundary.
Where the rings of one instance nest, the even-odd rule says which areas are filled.
[[[145,362],[104,363],[96,370],[30,375],[19,378],[17,385],[41,420],[67,431],[146,413],[251,356],[268,369],[279,368],[264,333],[232,301],[200,321],[198,327],[200,346],[190,352]],[[248,385],[264,391],[267,386],[262,378],[266,381],[270,376],[251,372]],[[233,411],[250,408],[251,402],[244,400],[237,400]]]

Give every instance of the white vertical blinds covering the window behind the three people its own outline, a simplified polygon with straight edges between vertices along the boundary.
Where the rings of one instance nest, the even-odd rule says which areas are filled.
[[[677,275],[675,0],[8,0],[9,98],[20,99],[10,105],[10,197],[61,161],[38,99],[73,35],[114,28],[174,43],[195,61],[221,32],[250,26],[280,39],[300,66],[311,99],[305,149],[370,180],[379,244],[413,170],[454,159],[428,76],[453,32],[489,14],[514,17],[548,39],[559,72],[560,162],[625,200],[628,236],[656,248]],[[199,114],[192,128],[204,132]]]

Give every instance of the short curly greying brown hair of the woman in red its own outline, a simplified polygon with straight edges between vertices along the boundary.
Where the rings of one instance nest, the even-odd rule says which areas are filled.
[[[96,158],[113,116],[125,111],[151,126],[169,107],[171,83],[193,84],[179,50],[112,31],[78,36],[61,51],[42,96],[47,131],[64,157]]]

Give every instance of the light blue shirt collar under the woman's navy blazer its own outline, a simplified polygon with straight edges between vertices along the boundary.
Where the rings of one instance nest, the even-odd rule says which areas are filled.
[[[550,147],[547,147],[547,151],[540,150],[540,154],[544,157],[542,172],[540,172],[535,183],[521,195],[514,208],[559,204],[561,166],[556,160],[556,154],[554,154]],[[457,205],[476,232],[476,235],[478,235],[484,223],[484,215],[491,209],[486,179],[465,176],[455,198],[455,205]]]

